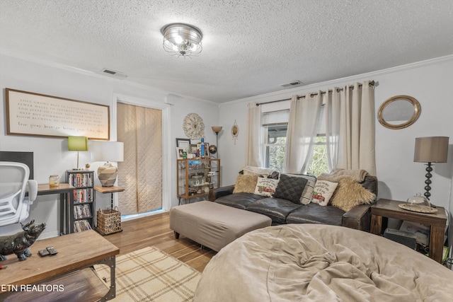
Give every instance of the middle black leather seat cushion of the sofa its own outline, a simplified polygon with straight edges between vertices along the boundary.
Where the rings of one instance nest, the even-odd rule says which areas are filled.
[[[249,204],[247,211],[254,211],[255,213],[263,214],[270,217],[273,223],[282,224],[286,223],[286,216],[298,207],[303,206],[301,204],[289,202],[287,199],[267,197]]]

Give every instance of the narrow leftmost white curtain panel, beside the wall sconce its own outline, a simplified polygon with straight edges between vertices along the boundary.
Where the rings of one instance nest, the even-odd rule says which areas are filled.
[[[256,103],[248,103],[246,134],[246,165],[263,167],[261,108]]]

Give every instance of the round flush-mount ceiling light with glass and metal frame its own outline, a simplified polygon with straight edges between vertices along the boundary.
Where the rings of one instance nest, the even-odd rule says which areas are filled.
[[[164,50],[178,57],[196,57],[202,51],[201,31],[193,25],[171,23],[161,28]]]

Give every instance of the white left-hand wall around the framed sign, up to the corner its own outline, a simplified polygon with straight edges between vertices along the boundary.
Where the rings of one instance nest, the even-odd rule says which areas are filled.
[[[48,182],[49,175],[56,174],[64,181],[65,171],[76,165],[76,153],[67,151],[67,139],[53,137],[26,137],[6,134],[6,101],[5,88],[21,91],[54,95],[62,98],[83,100],[91,103],[110,105],[110,138],[116,138],[116,95],[127,97],[137,105],[147,102],[165,107],[165,101],[171,91],[161,91],[156,88],[113,79],[108,76],[91,74],[86,71],[58,66],[48,62],[38,62],[26,58],[0,54],[0,87],[2,90],[2,106],[0,108],[0,151],[33,151],[35,180],[38,183]],[[197,112],[206,125],[206,141],[214,142],[215,134],[210,130],[217,125],[218,105],[206,100],[180,96],[171,97],[174,105],[170,106],[168,115],[168,148],[166,148],[167,167],[171,180],[170,192],[166,196],[166,208],[178,204],[176,198],[176,137],[185,138],[182,129],[183,119],[190,112]],[[169,106],[169,105],[168,105]],[[80,165],[91,163],[90,153],[80,153]],[[91,166],[97,170],[98,165]],[[100,185],[97,181],[96,185]],[[108,195],[108,196],[107,196]],[[47,227],[40,238],[57,236],[59,226],[59,195],[39,196],[30,210],[30,219],[36,222],[46,222]],[[96,194],[96,207],[110,207],[110,194]],[[19,231],[18,226],[0,228],[0,235]]]

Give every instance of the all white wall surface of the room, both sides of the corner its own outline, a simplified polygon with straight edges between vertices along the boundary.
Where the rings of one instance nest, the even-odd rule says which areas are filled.
[[[377,81],[375,88],[376,112],[384,100],[397,94],[407,94],[416,98],[422,112],[415,124],[406,129],[390,130],[376,122],[377,177],[379,197],[404,200],[423,192],[425,165],[413,162],[415,137],[447,136],[453,144],[453,102],[452,93],[447,89],[453,83],[453,56],[430,62],[420,62],[410,66],[378,71],[370,74],[338,79],[325,83],[305,86],[292,90],[258,95],[254,98],[236,100],[217,105],[215,103],[188,97],[173,98],[168,117],[168,167],[170,167],[171,192],[168,203],[178,204],[176,198],[176,138],[185,138],[182,129],[183,118],[190,112],[199,114],[205,122],[205,141],[214,144],[212,126],[222,126],[219,134],[219,155],[222,161],[222,185],[234,184],[237,172],[245,163],[246,112],[249,102],[266,102],[289,98],[293,94],[326,90],[333,86],[343,86],[355,81]],[[13,88],[47,95],[55,95],[74,100],[84,100],[115,107],[115,95],[127,95],[132,100],[164,105],[171,92],[138,86],[127,81],[77,71],[65,66],[55,66],[47,62],[32,62],[6,54],[0,54],[0,87]],[[4,93],[2,98],[5,99]],[[0,151],[33,151],[35,156],[35,179],[47,182],[51,174],[60,175],[76,164],[75,154],[67,151],[67,139],[47,137],[25,137],[6,135],[5,101],[0,108]],[[234,144],[231,126],[236,120],[239,137]],[[110,110],[110,128],[116,128],[114,110]],[[115,140],[114,135],[111,135]],[[81,153],[81,163],[90,162],[88,153]],[[453,148],[449,149],[449,162],[435,166],[432,178],[432,202],[453,211],[452,168]],[[93,167],[96,170],[96,166]],[[40,238],[56,236],[59,221],[57,195],[38,197],[31,209],[30,218],[37,222],[45,221],[47,228]],[[108,207],[110,197],[96,195],[97,207]],[[0,228],[0,234],[11,228]],[[453,232],[452,232],[453,233]],[[453,236],[449,236],[450,242]]]

